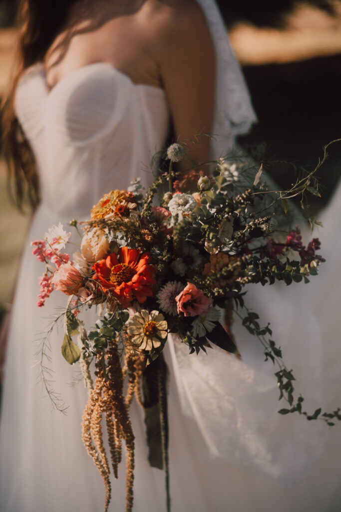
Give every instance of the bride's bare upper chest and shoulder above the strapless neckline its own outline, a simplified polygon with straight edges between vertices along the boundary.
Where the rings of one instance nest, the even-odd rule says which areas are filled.
[[[176,27],[182,26],[184,19],[194,23],[198,4],[195,0],[137,0],[130,4],[131,12],[100,10],[90,21],[78,20],[57,36],[44,59],[50,90],[67,74],[95,62],[110,64],[133,83],[163,88],[162,63],[168,59],[169,47],[176,47]],[[189,29],[189,23],[185,24]]]

